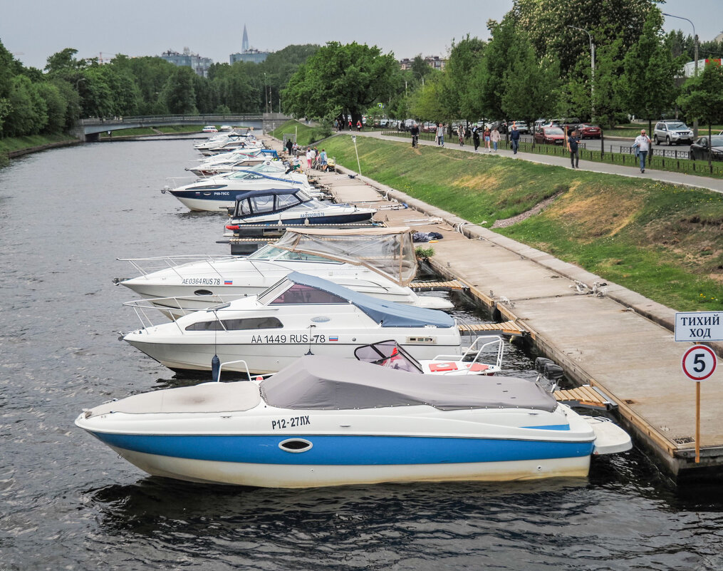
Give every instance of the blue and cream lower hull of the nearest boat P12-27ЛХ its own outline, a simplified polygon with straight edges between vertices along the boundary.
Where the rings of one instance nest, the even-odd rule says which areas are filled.
[[[208,454],[213,446],[196,444],[193,449],[204,451],[209,457],[179,457],[147,452],[141,447],[129,449],[111,444],[124,439],[108,438],[94,433],[121,457],[141,470],[177,480],[221,483],[239,486],[270,488],[309,488],[320,486],[346,486],[382,482],[440,482],[440,481],[518,481],[552,477],[585,477],[589,472],[591,443],[547,443],[492,440],[445,439],[379,436],[304,436],[322,449],[328,441],[331,460],[323,463],[305,463],[306,454],[288,454],[278,447],[280,437],[238,437],[240,458],[252,460],[254,452],[260,456],[270,451],[268,460],[229,460],[228,446],[224,460]],[[115,436],[115,435],[111,435]],[[166,438],[166,437],[159,437]],[[181,437],[183,438],[183,437]],[[233,439],[233,437],[227,437]],[[291,436],[285,435],[283,439]],[[110,441],[108,441],[110,440]],[[380,444],[379,441],[385,441]],[[184,444],[181,444],[184,447]],[[261,448],[262,447],[262,448]],[[177,449],[178,447],[172,447]],[[233,447],[231,447],[233,448]],[[544,452],[547,449],[547,453]],[[567,449],[568,452],[562,452]],[[366,450],[367,458],[359,457]],[[463,452],[460,452],[463,450]],[[525,452],[526,450],[526,452]],[[278,457],[275,452],[278,451]],[[346,462],[345,451],[354,458]],[[534,451],[534,452],[533,452]],[[313,449],[312,449],[313,452]],[[559,454],[569,454],[560,457]],[[550,457],[555,456],[557,457]],[[406,455],[405,462],[401,457]],[[285,458],[285,457],[286,458]],[[414,456],[428,458],[421,462]],[[339,461],[338,458],[342,457]],[[287,460],[288,458],[288,460]],[[469,461],[458,462],[465,459]]]

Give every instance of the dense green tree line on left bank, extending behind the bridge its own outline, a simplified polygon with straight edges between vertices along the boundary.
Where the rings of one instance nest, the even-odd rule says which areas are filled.
[[[56,134],[85,117],[253,114],[278,111],[279,95],[319,46],[287,46],[265,62],[213,64],[208,77],[160,57],[77,59],[66,48],[41,71],[0,42],[0,138]]]

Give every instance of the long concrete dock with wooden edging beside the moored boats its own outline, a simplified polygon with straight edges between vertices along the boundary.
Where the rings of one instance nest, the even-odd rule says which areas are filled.
[[[442,234],[442,240],[420,244],[434,248],[432,268],[463,284],[500,321],[525,331],[568,380],[589,386],[565,399],[589,403],[595,397],[590,391],[602,392],[611,403],[604,406],[617,407],[620,424],[638,447],[675,481],[723,474],[718,410],[723,383],[715,380],[721,373],[701,383],[701,461],[696,463],[696,386],[680,365],[691,344],[673,338],[675,310],[372,179],[352,179],[344,172],[317,177],[338,201],[369,203],[379,209],[375,218],[390,226]],[[722,355],[723,344],[711,347]]]

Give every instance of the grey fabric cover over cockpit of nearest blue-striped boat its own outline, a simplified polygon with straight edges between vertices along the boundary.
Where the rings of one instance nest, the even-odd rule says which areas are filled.
[[[552,394],[524,378],[440,378],[320,355],[301,357],[260,386],[269,405],[295,410],[429,405],[440,410],[521,408],[552,412],[557,407]]]

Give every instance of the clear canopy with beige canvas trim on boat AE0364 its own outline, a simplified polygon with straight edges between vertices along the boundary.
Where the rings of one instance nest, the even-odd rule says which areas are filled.
[[[407,226],[369,229],[288,229],[276,248],[363,264],[402,287],[416,276],[416,255]]]

